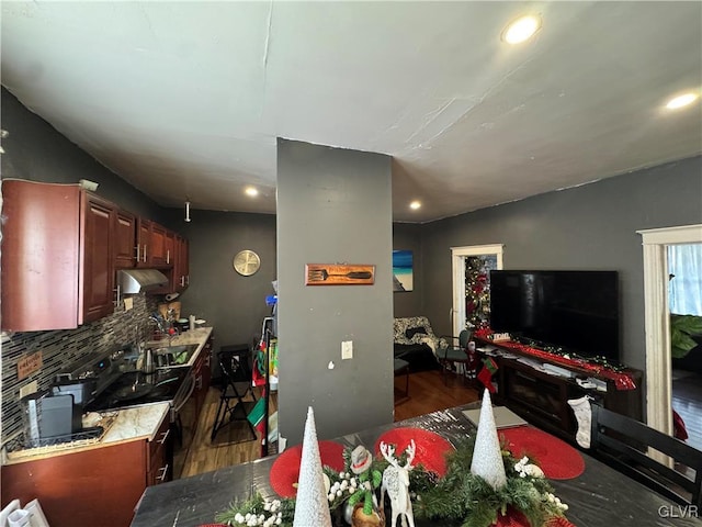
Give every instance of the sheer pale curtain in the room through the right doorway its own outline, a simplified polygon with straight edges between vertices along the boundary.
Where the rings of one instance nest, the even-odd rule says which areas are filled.
[[[702,316],[702,244],[668,246],[670,313]]]

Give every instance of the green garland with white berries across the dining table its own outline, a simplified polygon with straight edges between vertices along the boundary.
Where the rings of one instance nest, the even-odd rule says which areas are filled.
[[[415,518],[452,522],[461,527],[489,527],[509,509],[521,512],[532,526],[543,526],[552,517],[563,516],[567,505],[562,504],[554,495],[548,480],[541,475],[532,475],[524,470],[528,459],[516,459],[508,450],[502,449],[502,461],[507,474],[507,484],[494,490],[485,480],[471,472],[473,461],[474,439],[462,441],[455,451],[446,456],[446,474],[439,478],[434,472],[427,471],[422,466],[415,467],[409,472],[409,489],[412,500]],[[341,482],[348,482],[349,476],[358,478],[354,492],[335,491],[329,500],[332,515],[340,516],[347,503],[354,505],[363,501],[364,508],[372,506],[373,495],[381,485],[383,470],[387,462],[374,459],[371,468],[365,471],[364,479],[350,474],[348,471],[351,449],[344,450],[346,472],[336,472],[324,468],[336,489]],[[400,459],[401,462],[401,459]],[[529,467],[529,466],[528,466]],[[540,470],[537,470],[540,472]],[[363,483],[369,482],[369,485]],[[372,489],[367,489],[371,486]],[[333,486],[332,486],[333,489]],[[273,509],[273,512],[271,512]],[[369,509],[370,513],[370,509]],[[366,514],[369,514],[366,513]],[[295,500],[267,502],[260,494],[250,500],[234,502],[229,508],[216,515],[215,520],[230,526],[247,526],[246,515],[269,518],[269,524],[262,519],[254,525],[280,525],[292,527],[295,514]],[[273,516],[273,520],[271,520]],[[274,522],[280,518],[280,523]]]

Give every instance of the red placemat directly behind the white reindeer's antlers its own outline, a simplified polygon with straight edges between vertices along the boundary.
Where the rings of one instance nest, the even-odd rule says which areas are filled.
[[[387,445],[395,445],[395,456],[400,456],[414,439],[416,445],[415,460],[412,466],[422,464],[430,472],[435,472],[439,476],[446,473],[446,460],[444,455],[453,450],[451,444],[433,431],[421,428],[393,428],[386,431],[375,441],[375,453],[381,456],[381,441]]]

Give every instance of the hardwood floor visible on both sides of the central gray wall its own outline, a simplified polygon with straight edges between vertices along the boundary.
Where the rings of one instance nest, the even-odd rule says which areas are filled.
[[[478,392],[467,383],[464,384],[460,377],[449,373],[444,384],[440,370],[410,373],[407,396],[404,390],[405,377],[398,375],[395,378],[396,422],[478,400]],[[259,458],[260,437],[241,441],[248,439],[245,423],[227,425],[217,434],[214,442],[210,440],[218,402],[219,390],[211,388],[192,442],[176,452],[176,478],[186,478]]]

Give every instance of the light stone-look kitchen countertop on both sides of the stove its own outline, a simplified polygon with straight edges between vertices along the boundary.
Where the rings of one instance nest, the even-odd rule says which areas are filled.
[[[194,365],[205,347],[212,329],[212,327],[195,328],[184,332],[170,340],[171,346],[200,345],[190,361],[178,368],[189,368]],[[166,340],[160,340],[159,344],[166,344]],[[101,412],[99,415],[98,413],[84,414],[83,426],[103,426],[105,428],[104,434],[99,439],[83,439],[71,444],[59,444],[13,452],[5,452],[3,449],[1,452],[1,464],[13,464],[52,456],[63,456],[93,448],[103,448],[118,442],[152,440],[163,418],[170,418],[170,406],[169,402],[159,402],[129,406],[117,411]],[[98,421],[99,417],[101,417],[100,421]]]

